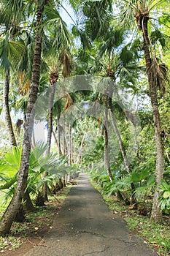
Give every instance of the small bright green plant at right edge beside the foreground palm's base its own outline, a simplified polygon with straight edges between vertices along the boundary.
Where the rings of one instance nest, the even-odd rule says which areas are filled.
[[[159,205],[161,206],[161,210],[166,214],[170,213],[170,185],[161,180],[161,184],[158,185],[158,191],[161,192],[159,195]]]

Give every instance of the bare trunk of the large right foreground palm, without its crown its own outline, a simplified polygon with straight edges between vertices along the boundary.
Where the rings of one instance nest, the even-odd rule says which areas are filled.
[[[155,221],[161,221],[162,214],[160,207],[158,206],[158,184],[161,184],[161,178],[163,178],[164,171],[164,157],[163,157],[163,142],[161,138],[161,118],[158,108],[158,97],[157,97],[157,81],[153,79],[152,74],[152,59],[150,57],[149,39],[147,31],[148,17],[144,16],[143,19],[143,39],[144,39],[144,57],[146,61],[147,78],[150,86],[150,99],[152,104],[152,113],[155,127],[155,145],[156,145],[156,170],[155,170],[155,194],[153,198],[152,214],[151,219]]]

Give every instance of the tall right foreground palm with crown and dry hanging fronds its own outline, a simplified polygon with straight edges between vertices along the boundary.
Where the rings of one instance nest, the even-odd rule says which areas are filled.
[[[164,171],[164,156],[163,156],[163,141],[161,138],[161,118],[158,107],[158,89],[165,90],[166,83],[166,65],[158,64],[158,59],[155,56],[155,50],[152,49],[152,44],[149,37],[148,22],[151,20],[150,12],[158,4],[163,1],[125,1],[126,9],[123,11],[124,18],[133,16],[136,18],[136,23],[143,37],[144,59],[146,62],[147,79],[150,89],[150,99],[152,104],[152,114],[155,128],[155,144],[156,144],[156,170],[155,170],[155,195],[153,199],[151,219],[160,221],[162,218],[159,206],[159,192],[158,185],[161,184]],[[129,20],[128,20],[129,22]]]

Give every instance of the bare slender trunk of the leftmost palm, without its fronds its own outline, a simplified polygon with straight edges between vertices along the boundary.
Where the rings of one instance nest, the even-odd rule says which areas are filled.
[[[4,116],[7,124],[7,130],[9,133],[9,140],[12,143],[12,146],[17,147],[17,142],[15,139],[14,129],[12,127],[12,120],[11,120],[10,111],[9,111],[9,81],[10,81],[10,75],[9,75],[9,70],[7,70],[5,74],[5,79],[4,79],[4,95],[3,95]]]

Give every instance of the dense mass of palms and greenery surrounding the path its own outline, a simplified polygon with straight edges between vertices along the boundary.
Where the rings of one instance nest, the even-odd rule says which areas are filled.
[[[150,223],[169,219],[169,6],[1,1],[1,236],[80,168]]]

